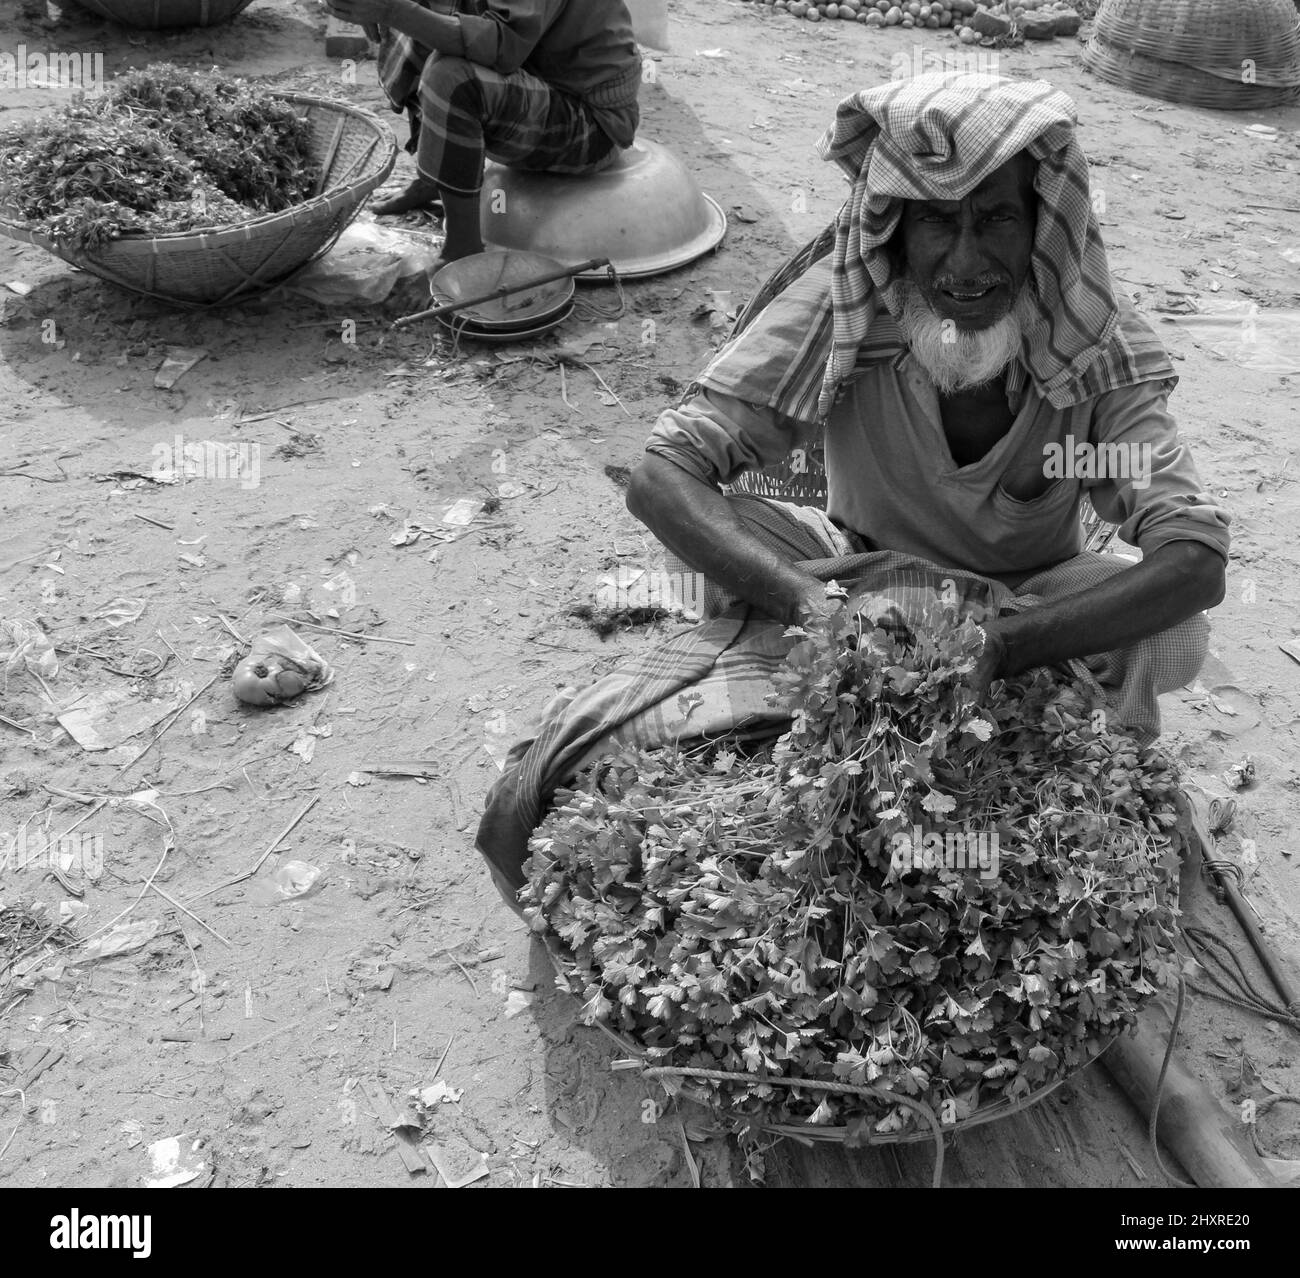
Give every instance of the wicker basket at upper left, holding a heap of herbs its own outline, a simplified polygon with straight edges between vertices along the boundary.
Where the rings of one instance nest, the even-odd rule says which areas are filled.
[[[94,252],[58,244],[0,218],[0,234],[47,248],[122,289],[188,309],[229,306],[283,283],[328,252],[396,163],[393,130],[377,116],[307,94],[276,94],[311,126],[317,192],[280,213],[209,231],[124,235]]]

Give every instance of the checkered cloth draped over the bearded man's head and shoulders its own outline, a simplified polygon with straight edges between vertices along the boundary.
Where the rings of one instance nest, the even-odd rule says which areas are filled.
[[[802,330],[797,367],[774,369],[772,325],[764,350],[760,319],[719,352],[701,384],[796,419],[812,417],[815,403],[815,419],[824,420],[838,387],[862,365],[868,333],[866,347],[878,354],[890,339],[901,345],[892,324],[901,267],[887,246],[902,202],[965,199],[1022,151],[1037,161],[1031,270],[1039,315],[1024,332],[1020,364],[1037,390],[1065,408],[1118,386],[1171,378],[1154,333],[1131,308],[1121,315],[1075,120],[1074,103],[1044,81],[988,74],[926,74],[846,98],[818,144],[852,183],[836,222],[829,298],[792,286],[786,307],[805,313],[774,316],[783,332]]]

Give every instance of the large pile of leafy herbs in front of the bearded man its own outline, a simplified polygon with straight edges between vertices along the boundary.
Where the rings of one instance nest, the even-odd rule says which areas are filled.
[[[1176,980],[1174,766],[1045,670],[984,705],[983,633],[845,616],[792,650],[766,753],[624,750],[562,790],[530,844],[532,927],[563,943],[584,1019],[705,1082],[742,1128],[910,1130],[1082,1066]],[[898,836],[997,836],[996,874],[909,863]],[[928,867],[927,867],[928,866]]]

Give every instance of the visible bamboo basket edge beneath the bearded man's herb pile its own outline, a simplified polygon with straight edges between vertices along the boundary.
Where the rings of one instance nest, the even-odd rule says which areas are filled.
[[[575,982],[569,975],[563,943],[549,932],[542,933],[542,943],[546,945],[546,953],[550,957],[551,966],[555,969],[555,974],[559,976],[560,983],[563,983],[563,985],[575,997],[581,997],[581,991],[576,988]],[[645,1053],[640,1044],[632,1041],[625,1035],[611,1030],[608,1026],[601,1024],[599,1022],[595,1024],[595,1028],[601,1030],[606,1037],[627,1053],[624,1058],[612,1062],[612,1069],[636,1070],[645,1079],[666,1083],[670,1089],[680,1093],[686,1100],[692,1100],[697,1105],[702,1105],[708,1109],[723,1122],[733,1121],[737,1122],[737,1126],[738,1121],[729,1115],[725,1108],[719,1105],[718,1097],[707,1089],[699,1087],[698,1083],[708,1079],[716,1082],[766,1083],[772,1087],[785,1087],[792,1091],[811,1092],[812,1095],[836,1093],[840,1096],[859,1096],[880,1101],[883,1105],[901,1105],[904,1109],[909,1109],[916,1114],[919,1122],[914,1131],[872,1131],[859,1138],[857,1143],[876,1147],[910,1145],[928,1140],[935,1148],[935,1166],[931,1175],[931,1184],[936,1190],[942,1183],[944,1141],[948,1136],[971,1131],[975,1127],[983,1127],[985,1123],[996,1122],[1000,1118],[1010,1118],[1013,1114],[1023,1113],[1032,1105],[1037,1105],[1040,1101],[1050,1096],[1058,1087],[1061,1087],[1062,1083],[1069,1082],[1069,1079],[1074,1078],[1076,1074],[1092,1065],[1115,1041],[1115,1039],[1119,1037],[1119,1032],[1122,1032],[1118,1031],[1106,1039],[1093,1040],[1089,1043],[1089,1048],[1092,1050],[1087,1061],[1071,1070],[1062,1071],[1057,1078],[1048,1083],[1043,1083],[1041,1086],[1027,1092],[1024,1096],[1020,1096],[1017,1100],[1006,1100],[1004,1097],[996,1101],[989,1101],[980,1105],[975,1113],[966,1118],[958,1118],[954,1122],[944,1123],[940,1122],[940,1118],[935,1113],[933,1108],[927,1105],[924,1101],[918,1101],[910,1096],[902,1096],[881,1087],[858,1086],[855,1083],[836,1083],[822,1079],[738,1074],[727,1070],[677,1069],[649,1065],[646,1063]],[[846,1144],[849,1140],[849,1128],[838,1123],[760,1123],[758,1125],[758,1130],[774,1136],[785,1136],[790,1140],[803,1143]]]

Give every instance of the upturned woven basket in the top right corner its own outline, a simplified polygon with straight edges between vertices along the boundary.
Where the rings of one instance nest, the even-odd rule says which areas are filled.
[[[1292,0],[1102,0],[1093,30],[1121,49],[1221,68],[1239,82],[1244,61],[1258,70],[1300,73],[1300,17]]]

